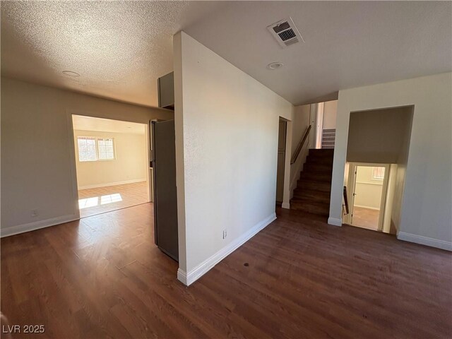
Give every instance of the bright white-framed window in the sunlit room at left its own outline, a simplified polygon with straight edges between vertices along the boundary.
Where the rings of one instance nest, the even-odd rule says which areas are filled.
[[[93,136],[78,136],[78,160],[97,161],[114,160],[113,138],[95,138]]]

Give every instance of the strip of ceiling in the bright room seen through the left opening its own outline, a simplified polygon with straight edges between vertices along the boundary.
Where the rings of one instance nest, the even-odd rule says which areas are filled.
[[[96,131],[109,133],[145,133],[145,124],[136,124],[135,122],[126,122],[112,119],[102,119],[93,117],[84,117],[83,115],[72,116],[73,129],[78,131]]]

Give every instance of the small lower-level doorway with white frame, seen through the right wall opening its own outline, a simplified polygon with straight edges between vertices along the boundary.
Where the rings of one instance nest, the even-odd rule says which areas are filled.
[[[351,164],[350,225],[383,231],[388,172],[387,164]]]

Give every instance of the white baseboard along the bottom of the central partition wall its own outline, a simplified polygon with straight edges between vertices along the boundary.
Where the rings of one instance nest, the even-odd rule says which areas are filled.
[[[191,270],[188,274],[179,268],[177,270],[177,279],[182,282],[184,285],[191,285],[196,280],[201,278],[204,274],[206,274],[213,266],[222,261],[222,259],[229,256],[233,251],[242,246],[245,242],[247,242],[251,237],[254,237],[258,232],[263,230],[265,227],[270,225],[271,222],[276,220],[276,214],[272,213],[267,218],[258,222],[258,224],[254,225],[248,232],[242,234],[242,236],[238,237],[234,241],[227,244],[227,246],[223,247],[217,253],[207,258],[205,261],[196,266],[193,270]]]

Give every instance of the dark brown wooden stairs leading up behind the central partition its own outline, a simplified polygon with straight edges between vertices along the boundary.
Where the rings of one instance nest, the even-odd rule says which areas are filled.
[[[328,217],[334,149],[309,150],[290,208]]]

